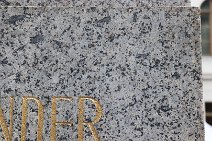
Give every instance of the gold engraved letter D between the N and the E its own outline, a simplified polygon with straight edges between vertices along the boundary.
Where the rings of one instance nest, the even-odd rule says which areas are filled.
[[[41,101],[32,96],[24,96],[22,98],[22,125],[21,125],[21,141],[26,140],[26,123],[27,123],[27,110],[28,101],[34,100],[38,105],[38,131],[37,131],[37,141],[42,141],[42,131],[43,131],[43,105]]]

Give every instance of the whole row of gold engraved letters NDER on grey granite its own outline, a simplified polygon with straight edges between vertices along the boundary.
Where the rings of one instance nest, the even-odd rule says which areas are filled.
[[[53,97],[52,98],[52,113],[51,113],[51,132],[50,132],[50,140],[56,141],[56,126],[57,125],[68,125],[73,126],[73,121],[70,119],[69,121],[57,121],[57,100],[65,100],[73,102],[72,97]],[[85,120],[85,101],[91,101],[96,107],[96,116],[91,122],[87,122]],[[22,123],[21,123],[21,141],[26,140],[27,133],[27,116],[28,116],[28,102],[32,101],[37,104],[38,107],[38,129],[37,129],[37,141],[42,141],[42,133],[44,127],[44,106],[42,102],[32,96],[24,96],[22,97]],[[6,117],[3,115],[3,109],[0,107],[0,125],[2,128],[2,133],[6,141],[12,141],[13,135],[13,109],[14,109],[14,97],[10,97],[10,126],[7,126]],[[103,115],[103,109],[98,100],[92,97],[79,97],[78,99],[78,141],[83,141],[84,139],[84,128],[87,126],[91,133],[92,137],[95,141],[100,141],[100,138],[97,134],[97,130],[95,129],[95,124],[99,122]],[[9,128],[9,129],[8,129]]]

